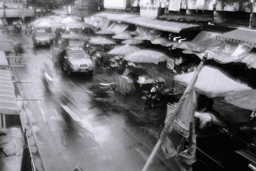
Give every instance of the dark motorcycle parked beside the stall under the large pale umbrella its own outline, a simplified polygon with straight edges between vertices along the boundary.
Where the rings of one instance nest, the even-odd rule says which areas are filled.
[[[155,84],[147,94],[145,103],[149,107],[155,107],[156,105],[166,105],[168,102],[179,101],[179,98],[180,94],[177,94],[175,89],[164,89],[163,86],[159,87]]]

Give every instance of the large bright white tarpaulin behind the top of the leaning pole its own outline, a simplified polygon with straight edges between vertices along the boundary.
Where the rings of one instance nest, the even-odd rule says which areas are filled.
[[[194,72],[195,71],[184,75],[176,75],[174,79],[180,84],[187,86]],[[204,66],[198,75],[195,89],[200,94],[204,94],[209,98],[215,98],[226,96],[232,91],[243,91],[252,88],[232,80],[218,70],[218,68]]]

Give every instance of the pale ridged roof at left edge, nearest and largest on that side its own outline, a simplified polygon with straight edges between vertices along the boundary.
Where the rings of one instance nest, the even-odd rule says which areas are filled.
[[[10,71],[0,70],[0,114],[19,114]]]

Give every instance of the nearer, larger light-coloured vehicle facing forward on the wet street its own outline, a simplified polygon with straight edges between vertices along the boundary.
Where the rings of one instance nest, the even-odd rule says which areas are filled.
[[[93,75],[95,64],[83,48],[68,47],[60,52],[59,59],[61,69],[67,71],[68,75],[72,75],[72,73]]]

